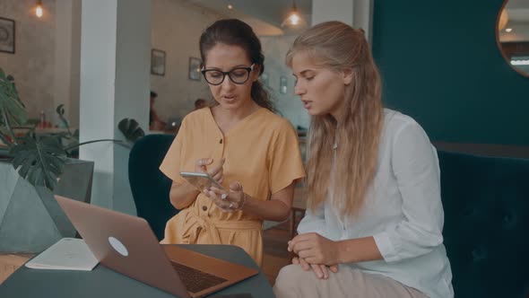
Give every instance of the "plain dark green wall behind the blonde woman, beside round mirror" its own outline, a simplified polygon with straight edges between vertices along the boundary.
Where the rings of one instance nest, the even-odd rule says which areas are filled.
[[[529,78],[496,44],[501,0],[376,0],[373,55],[386,106],[432,141],[529,145]]]

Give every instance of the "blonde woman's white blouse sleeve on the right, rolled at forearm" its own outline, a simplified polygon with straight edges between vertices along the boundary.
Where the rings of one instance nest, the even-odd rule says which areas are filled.
[[[437,151],[416,122],[395,134],[391,167],[403,199],[403,221],[374,235],[386,262],[421,256],[443,242],[444,213]]]

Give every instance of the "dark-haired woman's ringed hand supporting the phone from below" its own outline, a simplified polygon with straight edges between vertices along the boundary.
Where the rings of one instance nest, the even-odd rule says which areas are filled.
[[[213,200],[216,206],[224,212],[233,212],[242,209],[246,201],[246,194],[240,182],[231,182],[230,190],[214,188],[204,190],[204,195]]]

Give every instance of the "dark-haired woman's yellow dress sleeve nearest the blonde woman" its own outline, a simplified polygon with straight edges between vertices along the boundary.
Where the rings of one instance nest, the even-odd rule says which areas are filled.
[[[270,161],[268,172],[272,194],[288,187],[293,181],[305,177],[305,169],[299,152],[298,135],[287,120],[282,121],[268,153]]]

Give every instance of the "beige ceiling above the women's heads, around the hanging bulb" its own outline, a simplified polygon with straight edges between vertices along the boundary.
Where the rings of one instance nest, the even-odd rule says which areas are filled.
[[[283,35],[297,30],[282,27],[284,18],[290,13],[291,0],[186,0],[189,3],[205,7],[226,17],[238,18],[247,22],[257,35]],[[228,9],[228,5],[233,6]],[[309,23],[312,13],[312,0],[295,0],[301,17]],[[303,29],[303,28],[299,28]],[[298,30],[299,30],[298,29]]]

